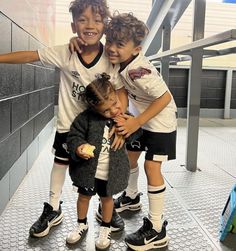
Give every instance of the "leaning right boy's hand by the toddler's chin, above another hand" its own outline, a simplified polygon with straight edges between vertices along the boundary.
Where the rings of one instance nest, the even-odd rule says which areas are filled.
[[[125,136],[125,138],[128,138],[132,133],[137,131],[141,125],[137,118],[124,114],[122,115],[122,118],[115,118],[116,122],[116,131],[119,135]]]

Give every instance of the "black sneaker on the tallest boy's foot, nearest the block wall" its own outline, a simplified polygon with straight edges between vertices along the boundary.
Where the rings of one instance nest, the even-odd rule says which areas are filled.
[[[62,201],[60,201],[59,209],[53,211],[53,207],[44,202],[43,213],[29,230],[31,237],[44,237],[49,233],[52,226],[56,226],[62,222],[63,213],[61,211],[61,204]]]

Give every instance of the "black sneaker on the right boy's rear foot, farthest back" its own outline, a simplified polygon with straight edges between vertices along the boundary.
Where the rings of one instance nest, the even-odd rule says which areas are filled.
[[[140,195],[138,193],[134,199],[131,199],[129,196],[126,196],[124,191],[117,199],[114,200],[114,207],[118,213],[124,210],[138,211],[141,209],[142,204],[140,203]]]

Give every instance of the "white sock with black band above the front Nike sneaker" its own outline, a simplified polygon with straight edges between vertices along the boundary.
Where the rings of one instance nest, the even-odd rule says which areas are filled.
[[[153,228],[157,232],[162,229],[162,215],[164,210],[164,192],[166,186],[150,186],[148,185],[148,200],[149,200],[149,218],[153,224]]]

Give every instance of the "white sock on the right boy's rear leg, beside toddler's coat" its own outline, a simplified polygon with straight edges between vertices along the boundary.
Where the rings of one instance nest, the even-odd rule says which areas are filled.
[[[128,181],[128,186],[125,189],[126,196],[129,196],[131,199],[134,199],[138,194],[138,176],[139,176],[139,167],[130,169],[130,176]]]

